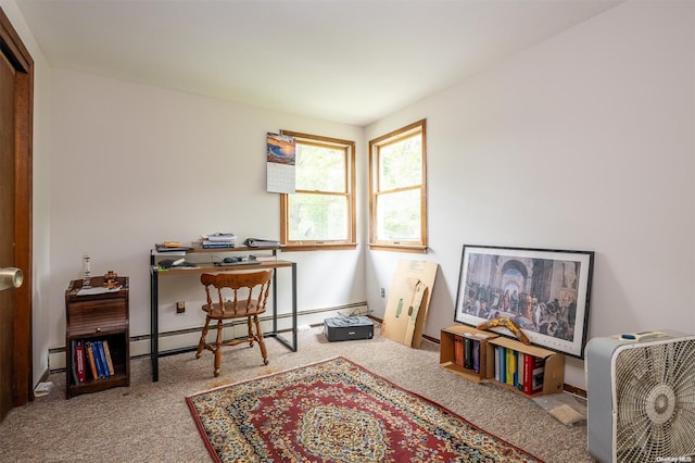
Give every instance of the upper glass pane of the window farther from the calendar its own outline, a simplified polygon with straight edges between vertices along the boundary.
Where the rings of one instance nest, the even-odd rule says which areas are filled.
[[[422,136],[379,148],[379,190],[422,184]]]

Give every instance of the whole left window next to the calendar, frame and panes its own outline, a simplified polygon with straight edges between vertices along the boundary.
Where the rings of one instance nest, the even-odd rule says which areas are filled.
[[[280,196],[286,250],[355,247],[355,142],[282,130],[294,137],[295,192]]]

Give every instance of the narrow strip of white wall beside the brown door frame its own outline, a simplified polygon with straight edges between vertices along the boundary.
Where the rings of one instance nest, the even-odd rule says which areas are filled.
[[[49,349],[49,324],[50,306],[46,288],[49,277],[49,245],[50,224],[48,221],[48,210],[50,208],[49,184],[50,184],[50,155],[49,155],[49,130],[50,130],[50,67],[46,57],[39,49],[34,35],[20,13],[13,0],[0,0],[0,7],[8,16],[12,26],[20,35],[22,42],[34,59],[34,137],[33,137],[33,279],[31,279],[31,325],[33,325],[33,371],[31,378],[34,385],[48,370]]]

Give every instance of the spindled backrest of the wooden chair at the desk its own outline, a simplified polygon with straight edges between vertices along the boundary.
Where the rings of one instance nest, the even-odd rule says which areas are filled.
[[[236,313],[240,306],[245,309],[254,301],[257,304],[256,312],[262,313],[265,311],[265,305],[268,301],[274,272],[274,268],[269,268],[261,272],[204,273],[200,276],[200,283],[205,286],[208,305],[215,302],[212,295],[215,291],[212,288],[217,289],[216,302],[219,304],[223,313],[225,313],[226,309],[231,309]],[[239,290],[244,288],[248,291],[242,291],[242,296],[243,292],[248,292],[248,295],[245,299],[240,299]],[[225,303],[226,301],[227,303]]]

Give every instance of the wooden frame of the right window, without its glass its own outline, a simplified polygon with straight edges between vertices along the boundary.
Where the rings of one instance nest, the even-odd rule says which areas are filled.
[[[395,188],[389,191],[379,189],[380,153],[379,150],[394,142],[409,138],[414,135],[422,138],[422,179],[420,188],[420,239],[419,240],[384,240],[378,239],[378,202],[379,196],[404,191],[403,188]],[[412,186],[418,187],[418,186]],[[407,189],[413,189],[413,188]],[[384,134],[369,140],[369,249],[400,252],[427,253],[427,120],[420,120],[401,127],[396,130]]]

